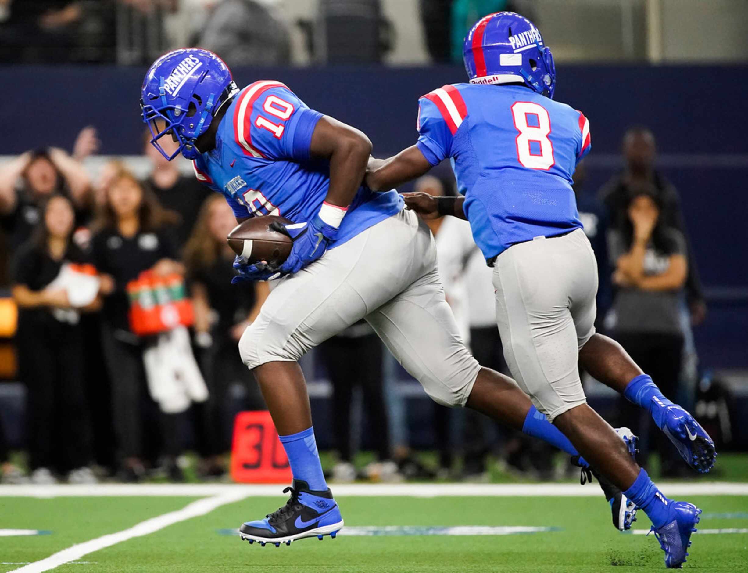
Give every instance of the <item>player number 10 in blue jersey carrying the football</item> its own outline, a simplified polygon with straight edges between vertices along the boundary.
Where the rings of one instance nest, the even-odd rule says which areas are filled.
[[[159,58],[147,71],[141,108],[153,145],[168,159],[191,159],[197,179],[224,194],[237,221],[292,221],[281,227],[293,246],[278,269],[241,257],[234,265],[235,281],[282,276],[239,353],[260,384],[293,474],[288,503],[243,524],[242,539],[290,544],[343,527],[297,361],[362,318],[432,399],[467,405],[578,455],[512,379],[480,367],[460,340],[429,228],[396,191],[362,185],[366,135],[310,109],[281,82],[239,90],[224,62],[203,49]],[[179,144],[174,153],[162,149],[164,137]],[[633,513],[623,510],[630,527]]]

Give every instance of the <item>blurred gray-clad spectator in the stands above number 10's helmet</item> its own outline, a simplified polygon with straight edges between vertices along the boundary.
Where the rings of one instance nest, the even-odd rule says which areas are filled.
[[[209,13],[197,46],[212,50],[230,66],[291,62],[289,30],[275,7],[255,0],[223,0]]]

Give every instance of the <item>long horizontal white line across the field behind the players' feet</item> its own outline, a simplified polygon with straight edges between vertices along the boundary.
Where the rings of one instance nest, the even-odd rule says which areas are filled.
[[[267,497],[283,495],[285,484],[200,484],[200,483],[154,483],[97,485],[0,485],[0,497],[206,497],[237,494],[243,497]],[[685,495],[748,495],[748,483],[732,482],[680,482],[658,483],[657,486],[669,497]],[[356,497],[598,497],[600,488],[596,484],[575,483],[346,483],[331,484],[336,496]]]

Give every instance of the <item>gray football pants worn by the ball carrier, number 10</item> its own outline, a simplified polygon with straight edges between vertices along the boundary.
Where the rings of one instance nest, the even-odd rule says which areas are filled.
[[[361,318],[432,399],[465,405],[480,366],[444,298],[429,227],[407,210],[281,278],[239,352],[250,369],[298,361]]]

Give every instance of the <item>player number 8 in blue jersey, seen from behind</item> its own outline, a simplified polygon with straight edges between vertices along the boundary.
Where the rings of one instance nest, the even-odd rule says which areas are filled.
[[[425,218],[470,222],[493,266],[498,328],[512,376],[586,460],[652,520],[668,567],[680,567],[701,512],[665,497],[616,432],[586,405],[577,360],[595,379],[647,408],[697,471],[714,443],[613,340],[595,334],[598,275],[577,214],[571,176],[589,153],[589,121],[554,101],[551,50],[530,20],[485,16],[465,38],[470,83],[420,99],[417,143],[371,159],[365,183],[391,189],[450,158],[461,197],[406,194]]]

